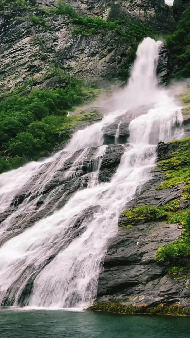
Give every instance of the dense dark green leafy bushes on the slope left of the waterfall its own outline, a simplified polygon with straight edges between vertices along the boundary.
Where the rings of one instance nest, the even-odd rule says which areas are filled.
[[[65,89],[33,90],[0,102],[0,172],[53,148],[67,110],[81,101],[81,84],[72,77],[67,84]]]

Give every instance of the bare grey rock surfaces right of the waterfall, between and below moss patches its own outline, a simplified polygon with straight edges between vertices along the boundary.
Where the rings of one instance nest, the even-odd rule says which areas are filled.
[[[161,143],[158,159],[167,159],[175,147],[175,143]],[[126,204],[125,209],[145,204],[160,207],[175,198],[180,198],[181,209],[189,207],[189,202],[181,198],[184,184],[156,190],[163,180],[164,174],[157,167],[152,178]],[[165,221],[129,221],[122,213],[118,224],[118,235],[110,243],[99,277],[97,301],[100,308],[101,304],[107,302],[136,307],[156,307],[158,304],[188,307],[189,273],[175,278],[167,274],[166,264],[155,262],[157,249],[178,239],[182,226],[167,224]]]

